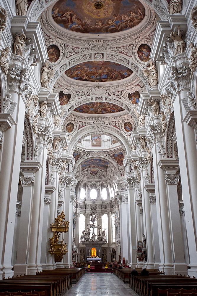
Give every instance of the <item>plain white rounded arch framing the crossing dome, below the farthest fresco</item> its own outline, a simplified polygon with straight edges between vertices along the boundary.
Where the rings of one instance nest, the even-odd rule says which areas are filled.
[[[131,147],[129,145],[128,139],[126,135],[124,135],[121,131],[119,131],[117,128],[114,128],[113,126],[107,126],[107,125],[100,125],[100,126],[85,126],[83,128],[80,128],[75,135],[72,137],[70,144],[68,146],[68,154],[72,155],[74,148],[79,143],[80,139],[84,136],[90,136],[97,131],[98,133],[102,133],[106,136],[112,136],[114,139],[119,141],[123,147],[123,150],[126,155],[131,154]]]

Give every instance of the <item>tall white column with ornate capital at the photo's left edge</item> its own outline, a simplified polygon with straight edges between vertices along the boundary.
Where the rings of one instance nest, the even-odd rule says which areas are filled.
[[[18,180],[20,170],[20,159],[22,151],[22,139],[25,118],[25,99],[21,93],[22,64],[24,59],[16,57],[12,61],[10,68],[17,70],[16,75],[10,75],[8,72],[9,93],[12,95],[12,101],[16,107],[12,115],[1,114],[2,124],[8,124],[9,128],[4,132],[3,149],[1,152],[1,170],[0,170],[0,279],[8,276],[12,277],[14,272],[11,270],[12,247],[14,238],[15,212],[17,203]],[[25,78],[24,78],[25,79]],[[25,81],[28,85],[28,81]],[[8,119],[9,116],[9,119]]]

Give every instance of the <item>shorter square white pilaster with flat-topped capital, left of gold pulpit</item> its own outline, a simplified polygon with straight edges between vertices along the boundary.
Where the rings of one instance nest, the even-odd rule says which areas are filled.
[[[34,175],[40,168],[40,163],[35,162],[34,160],[27,160],[21,163],[21,170],[24,173],[24,177],[20,177],[23,192],[18,234],[17,258],[16,264],[14,265],[14,276],[27,274],[27,262],[29,257],[29,244],[31,235],[30,225],[32,219],[31,205],[35,181]]]

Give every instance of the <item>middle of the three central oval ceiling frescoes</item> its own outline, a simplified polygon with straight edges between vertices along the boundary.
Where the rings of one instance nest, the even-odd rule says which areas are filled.
[[[92,82],[121,80],[132,73],[132,70],[123,65],[105,61],[84,62],[65,71],[72,79]]]

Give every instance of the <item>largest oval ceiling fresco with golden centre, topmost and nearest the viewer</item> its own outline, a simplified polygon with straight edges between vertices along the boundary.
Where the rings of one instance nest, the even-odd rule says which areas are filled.
[[[53,20],[79,33],[115,33],[138,25],[145,16],[138,0],[59,0],[53,6]]]

